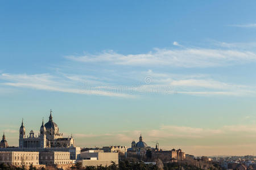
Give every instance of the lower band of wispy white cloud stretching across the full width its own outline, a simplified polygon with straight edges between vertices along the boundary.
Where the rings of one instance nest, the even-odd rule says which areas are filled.
[[[147,78],[147,75],[152,76],[149,77],[150,82],[138,83],[136,86],[134,84],[120,86],[118,84],[109,85],[109,83],[98,80],[89,80],[89,83],[85,83],[82,82],[84,76],[79,75],[53,76],[51,74],[0,74],[0,79],[3,80],[1,83],[2,86],[116,97],[135,97],[143,94],[187,94],[204,96],[245,96],[255,94],[255,90],[252,87],[219,82],[207,78],[206,75],[168,75],[166,73],[154,73],[152,70],[140,74],[142,75],[143,81],[146,81],[145,78]],[[102,85],[99,86],[98,84],[101,83]]]

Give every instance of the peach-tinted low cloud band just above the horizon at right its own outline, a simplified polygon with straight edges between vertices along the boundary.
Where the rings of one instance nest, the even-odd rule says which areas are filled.
[[[138,141],[140,134],[142,134],[143,141],[147,143],[148,146],[154,146],[155,144],[152,141],[159,141],[161,146],[180,144],[180,141],[187,143],[184,146],[195,145],[195,143],[189,143],[189,141],[195,140],[204,140],[210,141],[214,138],[214,142],[220,143],[223,138],[227,135],[232,135],[234,137],[248,137],[256,138],[256,126],[252,125],[229,125],[229,126],[220,126],[220,128],[197,128],[191,126],[176,126],[176,125],[162,125],[156,129],[148,130],[134,130],[134,131],[115,131],[109,134],[76,134],[75,137],[80,139],[89,139],[94,137],[100,137],[105,142],[104,145],[126,145],[130,146],[131,141]],[[246,134],[245,134],[246,133]],[[102,141],[101,140],[101,141]],[[93,145],[100,145],[102,142],[92,143]],[[114,141],[114,142],[111,142]],[[176,141],[174,143],[174,141]],[[178,142],[179,141],[179,142]],[[197,145],[199,143],[197,142]],[[234,143],[233,143],[234,144]],[[87,145],[90,145],[89,143]],[[212,146],[212,145],[211,145]],[[168,146],[171,147],[171,146]],[[170,149],[170,148],[168,148]]]

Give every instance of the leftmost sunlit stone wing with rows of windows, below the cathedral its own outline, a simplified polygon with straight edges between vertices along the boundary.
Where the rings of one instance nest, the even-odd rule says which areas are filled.
[[[39,165],[39,152],[0,151],[0,163],[15,166]]]

